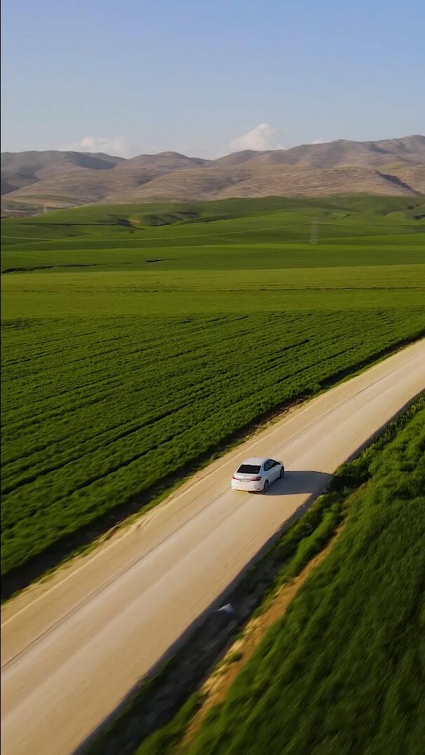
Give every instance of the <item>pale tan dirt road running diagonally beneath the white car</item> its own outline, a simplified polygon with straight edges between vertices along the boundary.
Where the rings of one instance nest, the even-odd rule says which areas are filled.
[[[425,340],[286,414],[109,543],[2,611],[2,744],[70,753],[329,474],[425,388]],[[232,492],[247,456],[267,495]]]

